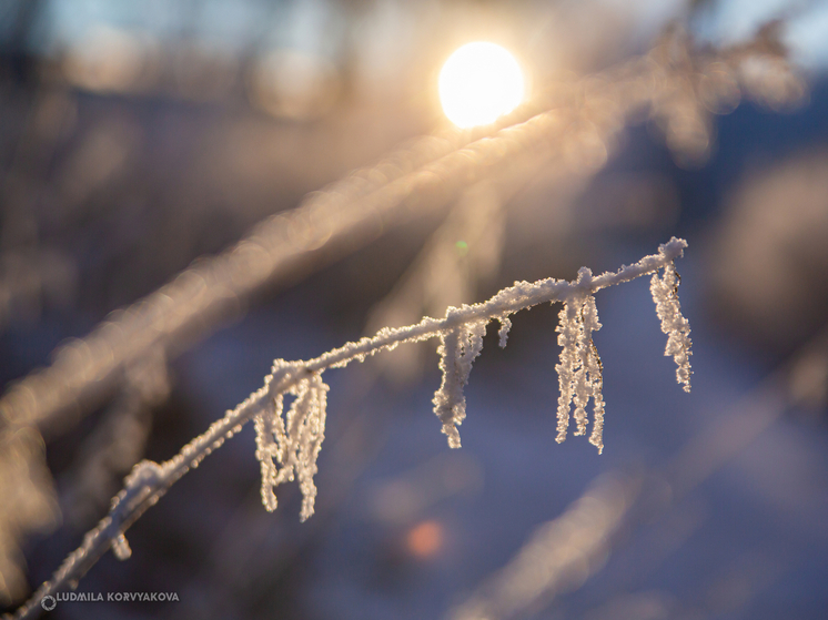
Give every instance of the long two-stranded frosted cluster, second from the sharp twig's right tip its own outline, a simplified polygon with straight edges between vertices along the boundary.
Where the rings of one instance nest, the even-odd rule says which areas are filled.
[[[557,437],[561,443],[566,439],[569,429],[569,411],[575,406],[575,435],[586,435],[588,415],[586,407],[593,399],[593,433],[589,443],[604,449],[604,386],[603,366],[598,349],[593,342],[593,332],[600,329],[595,297],[588,292],[592,272],[583,268],[578,273],[576,285],[580,289],[564,299],[557,326],[561,362],[555,366],[558,375],[559,396],[557,409]]]

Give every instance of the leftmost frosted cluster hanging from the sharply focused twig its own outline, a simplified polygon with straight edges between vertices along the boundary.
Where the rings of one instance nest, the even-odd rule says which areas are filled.
[[[286,366],[286,362],[277,359],[273,370]],[[313,515],[316,499],[313,476],[325,438],[327,389],[322,373],[313,373],[284,393],[276,394],[272,404],[254,417],[256,458],[262,469],[262,504],[271,512],[276,509],[275,487],[293,481],[295,477],[302,491],[300,518],[304,521]],[[284,394],[295,396],[295,399],[283,419]]]

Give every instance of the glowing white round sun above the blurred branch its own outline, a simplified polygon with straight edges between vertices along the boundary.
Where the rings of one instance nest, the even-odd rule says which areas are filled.
[[[485,41],[466,43],[440,72],[440,102],[455,125],[487,125],[523,101],[526,87],[515,58]]]

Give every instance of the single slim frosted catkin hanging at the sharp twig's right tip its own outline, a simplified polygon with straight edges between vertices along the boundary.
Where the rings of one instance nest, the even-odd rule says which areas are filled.
[[[681,304],[678,302],[678,284],[681,278],[670,261],[664,266],[664,275],[656,271],[649,281],[653,301],[656,303],[656,314],[662,321],[662,332],[667,334],[667,346],[664,355],[676,362],[676,380],[690,392],[690,324],[681,315]]]

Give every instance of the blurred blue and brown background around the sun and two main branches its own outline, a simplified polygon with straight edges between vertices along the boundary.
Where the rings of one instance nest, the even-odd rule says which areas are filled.
[[[246,428],[131,530],[129,561],[103,558],[80,587],[180,602],[65,602],[51,616],[825,618],[825,2],[4,0],[0,377],[48,365],[68,338],[396,145],[465,140],[436,94],[464,42],[515,53],[528,109],[545,110],[585,75],[669,51],[676,24],[705,48],[770,22],[798,75],[754,63],[765,94],[738,106],[717,82],[708,108],[725,115],[704,131],[678,89],[662,102],[673,115],[645,111],[597,155],[526,153],[450,209],[385,222],[261,287],[234,321],[128,368],[88,415],[41,424],[54,498],[0,474],[0,514],[22,510],[37,530],[0,532],[4,604],[50,577],[132,465],[172,456],[272,358],[514,279],[616,268],[675,234],[690,244],[678,268],[694,392],[662,358],[646,285],[607,291],[603,456],[554,443],[557,309],[536,308],[505,350],[487,336],[461,451],[431,413],[433,346],[332,373],[311,520],[299,524],[291,487],[264,511]]]

